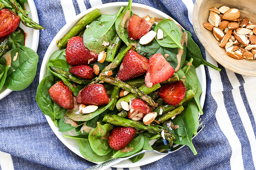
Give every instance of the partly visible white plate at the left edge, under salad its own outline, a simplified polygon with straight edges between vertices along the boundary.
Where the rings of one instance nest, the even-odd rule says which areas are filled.
[[[32,18],[32,20],[36,23],[39,23],[37,10],[35,7],[35,3],[33,0],[27,0],[24,4],[25,9],[27,11],[30,11],[29,16]],[[35,30],[33,28],[26,27],[20,22],[20,27],[24,30],[24,32],[27,34],[25,39],[25,46],[31,48],[35,52],[37,51],[38,42],[39,42],[39,30]],[[7,89],[6,87],[3,87],[0,91],[0,100],[7,96],[9,93],[11,93],[12,90]]]

